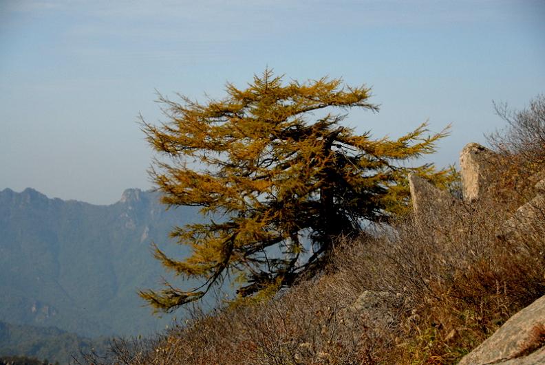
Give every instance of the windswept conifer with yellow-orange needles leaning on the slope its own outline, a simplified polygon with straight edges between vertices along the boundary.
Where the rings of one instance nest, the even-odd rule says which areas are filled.
[[[165,267],[205,280],[189,291],[165,283],[140,292],[157,309],[198,300],[228,274],[243,277],[241,296],[292,285],[324,268],[337,237],[403,212],[409,172],[445,181],[431,164],[403,166],[433,153],[445,130],[425,136],[422,124],[397,140],[374,140],[341,125],[346,115],[332,111],[378,110],[365,86],[328,78],[284,85],[266,70],[246,89],[227,84],[226,92],[206,104],[160,96],[168,122],[142,120],[151,146],[169,157],[151,170],[163,203],[201,207],[210,219],[171,232],[191,246],[184,260],[156,247]]]

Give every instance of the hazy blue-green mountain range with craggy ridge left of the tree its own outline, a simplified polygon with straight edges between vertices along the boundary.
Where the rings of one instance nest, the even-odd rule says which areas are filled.
[[[178,256],[168,232],[196,221],[195,208],[165,210],[156,192],[129,189],[95,206],[27,188],[0,192],[0,320],[98,335],[147,335],[151,316],[138,289],[160,287],[152,241]],[[191,283],[189,283],[191,285]]]

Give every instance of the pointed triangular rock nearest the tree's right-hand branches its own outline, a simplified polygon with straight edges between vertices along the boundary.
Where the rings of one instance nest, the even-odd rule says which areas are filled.
[[[418,175],[409,175],[409,188],[417,219],[425,217],[427,213],[436,215],[442,210],[458,207],[461,203],[449,192],[436,188]]]

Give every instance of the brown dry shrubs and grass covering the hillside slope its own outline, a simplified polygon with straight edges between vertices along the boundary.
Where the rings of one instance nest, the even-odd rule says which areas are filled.
[[[492,137],[500,153],[494,162],[498,178],[486,197],[339,241],[328,274],[269,300],[208,315],[193,311],[191,320],[149,345],[118,342],[107,359],[89,361],[458,362],[545,294],[545,212],[521,223],[517,234],[501,234],[543,178],[544,105],[545,98],[538,98],[532,113],[511,115],[509,130]],[[541,329],[536,337],[541,343]]]

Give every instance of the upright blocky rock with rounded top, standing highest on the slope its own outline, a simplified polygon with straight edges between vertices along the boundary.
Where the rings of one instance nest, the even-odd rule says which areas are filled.
[[[460,153],[465,201],[480,199],[493,179],[492,162],[497,155],[476,143],[467,144]]]

